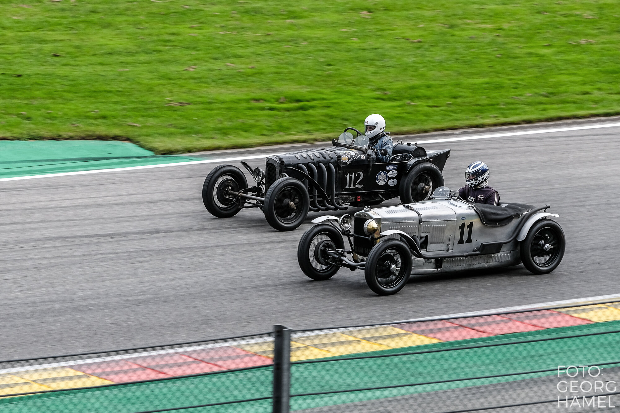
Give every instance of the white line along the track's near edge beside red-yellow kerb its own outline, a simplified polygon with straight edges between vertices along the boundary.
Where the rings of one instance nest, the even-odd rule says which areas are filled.
[[[448,314],[447,316],[415,318],[415,319],[411,319],[411,320],[394,321],[394,323],[414,322],[414,321],[429,321],[429,320],[454,318],[454,317],[463,317],[463,316],[467,316],[467,317],[469,317],[469,316],[471,316],[471,317],[474,317],[474,316],[485,316],[487,314],[508,313],[509,311],[520,311],[520,310],[523,310],[523,311],[536,311],[537,309],[542,309],[542,308],[552,308],[552,307],[556,307],[557,308],[557,307],[570,306],[570,305],[575,305],[575,306],[590,305],[590,304],[596,304],[596,301],[616,300],[616,298],[618,298],[620,300],[620,294],[600,295],[600,296],[596,296],[596,297],[587,297],[587,298],[577,298],[575,300],[551,301],[550,303],[528,304],[528,305],[525,305],[525,306],[496,308],[496,309],[485,310],[485,311],[472,311],[471,313]],[[385,324],[378,324],[378,325],[379,326],[384,326]],[[376,325],[374,325],[374,326],[376,326]],[[333,332],[343,332],[343,333],[346,334],[347,331],[358,330],[358,329],[365,329],[365,328],[374,327],[374,326],[370,325],[370,326],[362,326],[362,327],[341,327],[341,328],[325,329],[325,330],[318,330],[318,331],[297,332],[297,333],[293,334],[293,339],[295,337],[305,337],[305,336],[308,336],[308,335],[327,334],[327,333],[333,333]],[[215,343],[215,344],[192,345],[192,346],[187,346],[187,347],[177,347],[176,349],[153,350],[153,351],[150,351],[150,352],[131,353],[131,354],[118,354],[118,355],[107,356],[107,357],[84,358],[82,360],[71,360],[71,361],[68,361],[68,362],[47,363],[47,364],[32,365],[32,366],[20,366],[20,367],[13,367],[13,368],[5,368],[3,370],[0,370],[0,374],[4,374],[4,373],[17,373],[18,371],[39,370],[39,369],[42,369],[42,368],[70,367],[70,366],[76,366],[76,365],[88,364],[88,363],[107,362],[107,361],[110,361],[110,360],[123,360],[123,359],[126,359],[126,358],[132,358],[132,357],[144,357],[144,356],[148,356],[148,355],[159,355],[159,354],[166,354],[166,353],[187,352],[187,351],[190,351],[190,350],[212,349],[214,347],[229,347],[229,346],[234,346],[234,345],[259,343],[259,342],[270,342],[270,341],[273,341],[272,337],[259,337],[259,338],[256,338],[256,339],[245,339],[245,340],[243,340],[243,339],[236,339],[236,340],[231,340],[229,342],[220,342],[220,343]]]

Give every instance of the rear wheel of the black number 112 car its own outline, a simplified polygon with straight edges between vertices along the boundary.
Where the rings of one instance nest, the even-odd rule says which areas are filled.
[[[430,162],[422,162],[412,167],[401,180],[399,195],[402,203],[427,200],[433,190],[443,187],[443,175],[438,167]]]

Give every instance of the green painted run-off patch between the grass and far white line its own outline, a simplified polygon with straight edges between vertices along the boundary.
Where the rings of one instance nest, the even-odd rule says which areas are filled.
[[[198,161],[122,141],[0,141],[0,178]]]

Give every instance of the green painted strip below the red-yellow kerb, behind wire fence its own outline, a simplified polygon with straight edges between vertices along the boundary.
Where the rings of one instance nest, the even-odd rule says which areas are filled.
[[[471,345],[600,333],[618,329],[620,329],[620,321],[610,321],[584,326],[461,340],[458,342],[419,345],[404,349],[373,352],[372,354],[446,348],[458,349],[459,347]],[[557,368],[558,365],[593,365],[596,363],[615,362],[619,358],[619,345],[620,333],[613,333],[449,352],[299,364],[291,367],[291,394],[507,375],[520,371],[552,369]],[[365,355],[368,355],[368,353],[365,353]],[[355,356],[359,355],[352,355],[351,357]],[[534,373],[426,384],[423,386],[293,397],[291,399],[291,409],[299,410],[311,407],[332,406],[335,404],[502,383],[554,374]],[[38,413],[42,411],[48,413],[107,413],[111,411],[133,413],[265,397],[270,395],[271,387],[272,368],[261,367],[253,370],[231,371],[229,373],[126,384],[107,388],[78,389],[35,394],[32,396],[7,397],[0,399],[0,410],[3,413]],[[271,410],[271,402],[270,400],[254,401],[190,409],[188,411],[193,413],[207,411],[234,412],[241,410],[267,413]]]

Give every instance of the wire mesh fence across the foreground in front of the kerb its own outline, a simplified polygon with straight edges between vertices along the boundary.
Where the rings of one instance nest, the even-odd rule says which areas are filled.
[[[620,303],[0,362],[0,411],[620,408]]]

